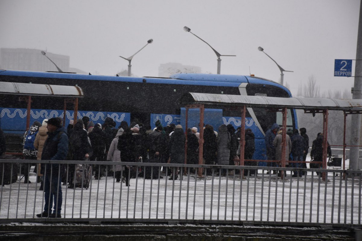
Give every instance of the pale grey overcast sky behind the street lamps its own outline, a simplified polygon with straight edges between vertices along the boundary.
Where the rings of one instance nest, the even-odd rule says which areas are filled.
[[[0,0],[0,47],[35,48],[69,55],[70,66],[115,75],[132,60],[132,73],[158,76],[160,64],[195,65],[216,73],[284,81],[296,94],[313,74],[322,91],[344,90],[354,78],[334,77],[334,59],[355,59],[359,0]],[[355,61],[353,61],[354,75]]]

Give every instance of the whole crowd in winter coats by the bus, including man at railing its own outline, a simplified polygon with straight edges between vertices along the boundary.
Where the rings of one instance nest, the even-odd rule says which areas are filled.
[[[107,117],[103,124],[94,124],[87,116],[74,123],[72,120],[65,128],[60,117],[44,119],[42,124],[35,121],[24,134],[23,156],[28,160],[91,160],[113,162],[153,162],[175,163],[185,162],[185,142],[187,137],[186,164],[198,164],[199,132],[193,127],[187,130],[187,135],[181,125],[170,124],[162,126],[159,121],[156,128],[146,130],[137,119],[130,125],[122,121],[116,128],[116,122]],[[300,132],[300,134],[299,134]],[[273,124],[265,133],[266,155],[269,167],[278,167],[282,159],[282,133],[283,129],[278,124]],[[234,160],[240,155],[241,128],[229,125],[220,125],[218,132],[211,125],[203,127],[203,164],[207,165],[234,165]],[[244,165],[257,165],[253,161],[255,152],[255,137],[251,129],[245,130]],[[0,154],[6,151],[5,137],[0,129]],[[305,128],[287,133],[285,146],[285,160],[305,161],[309,149],[309,139]],[[321,161],[323,154],[323,133],[318,133],[313,141],[312,160]],[[331,149],[328,144],[328,155]],[[291,167],[306,168],[306,163],[291,163]],[[318,168],[319,166],[316,166]],[[68,185],[73,188],[73,177],[76,168],[59,164],[35,164],[34,172],[37,173],[37,182],[41,182],[39,190],[45,192],[44,211],[38,217],[60,217],[62,207],[62,187]],[[59,171],[60,170],[60,171]],[[30,165],[23,165],[20,172],[24,175],[24,182],[29,180]],[[142,171],[142,170],[140,170]],[[165,171],[165,169],[163,169]],[[178,178],[177,168],[173,168],[164,176],[170,175],[170,180]],[[207,169],[210,175],[212,169]],[[221,169],[219,175],[226,175],[227,169]],[[254,174],[256,170],[244,170],[244,175]],[[67,173],[61,176],[54,173]],[[123,177],[121,173],[123,172]],[[53,174],[52,174],[53,173]],[[132,173],[132,174],[131,174]],[[105,175],[114,176],[117,182],[124,180],[126,186],[130,185],[130,177],[134,176],[131,166],[97,165],[93,168],[95,179]],[[154,173],[155,174],[155,173]],[[273,171],[273,174],[277,174]],[[302,176],[304,172],[294,172],[293,176]],[[158,175],[158,173],[157,173]],[[280,173],[278,173],[280,175]],[[146,175],[145,175],[146,176]],[[163,178],[163,176],[159,176]],[[149,177],[149,178],[157,178]],[[82,186],[81,186],[82,187]],[[53,212],[52,203],[54,202]]]

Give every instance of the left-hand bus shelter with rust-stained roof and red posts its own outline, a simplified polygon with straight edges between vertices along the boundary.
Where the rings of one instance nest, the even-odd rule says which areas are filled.
[[[42,85],[33,83],[0,82],[0,94],[21,95],[19,101],[26,101],[26,130],[30,126],[31,96],[62,97],[64,98],[63,124],[65,124],[67,103],[74,103],[74,123],[78,115],[78,98],[84,97],[79,86],[67,85]]]

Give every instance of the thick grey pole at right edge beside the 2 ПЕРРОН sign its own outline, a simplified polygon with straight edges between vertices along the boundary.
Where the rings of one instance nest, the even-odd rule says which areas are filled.
[[[362,99],[362,0],[359,5],[359,21],[357,35],[356,66],[354,71],[354,87],[352,99]],[[349,169],[358,169],[359,143],[361,138],[361,115],[352,115],[351,141],[349,151]],[[360,164],[359,169],[362,165]]]

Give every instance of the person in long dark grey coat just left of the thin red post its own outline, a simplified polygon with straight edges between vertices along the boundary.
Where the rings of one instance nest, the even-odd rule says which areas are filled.
[[[181,125],[177,125],[170,137],[170,163],[183,164],[185,163],[185,133]],[[174,168],[174,179],[178,177],[178,168]],[[169,178],[172,180],[173,177]]]

